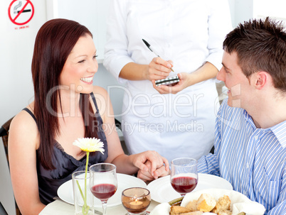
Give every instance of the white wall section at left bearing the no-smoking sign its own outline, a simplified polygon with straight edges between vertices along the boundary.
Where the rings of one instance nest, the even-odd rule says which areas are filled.
[[[32,2],[35,13],[28,28],[15,30],[7,15],[11,0],[0,1],[0,125],[33,99],[31,59],[36,33],[46,21],[46,0]]]

